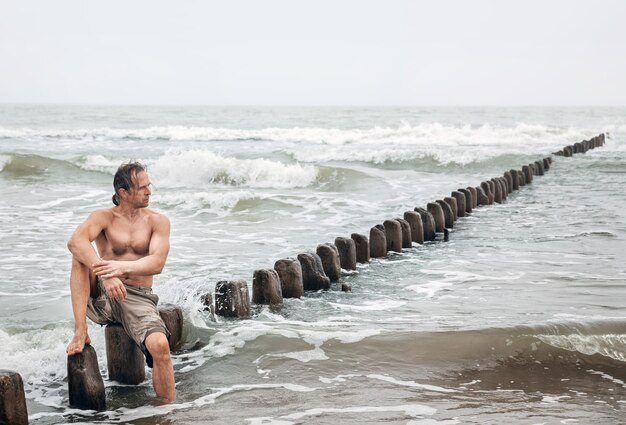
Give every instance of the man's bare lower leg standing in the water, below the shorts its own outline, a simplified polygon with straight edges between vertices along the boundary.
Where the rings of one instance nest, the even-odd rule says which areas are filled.
[[[174,367],[170,357],[170,345],[162,332],[153,332],[146,338],[146,348],[154,361],[152,386],[157,397],[174,401]]]

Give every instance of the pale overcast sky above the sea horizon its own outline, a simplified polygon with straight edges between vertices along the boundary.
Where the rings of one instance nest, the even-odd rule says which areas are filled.
[[[626,105],[626,1],[0,5],[1,103]]]

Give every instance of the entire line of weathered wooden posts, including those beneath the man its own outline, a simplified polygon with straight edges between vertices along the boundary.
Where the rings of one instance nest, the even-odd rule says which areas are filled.
[[[565,146],[554,152],[556,156],[569,157],[603,146],[605,135]],[[352,233],[349,238],[338,237],[334,243],[318,245],[315,252],[304,252],[297,258],[276,261],[273,269],[260,269],[252,278],[254,304],[280,305],[284,298],[300,298],[306,291],[330,289],[330,284],[341,278],[342,269],[356,270],[357,263],[368,263],[370,258],[385,257],[388,252],[401,252],[413,243],[423,244],[441,239],[446,241],[454,223],[470,214],[475,208],[502,203],[513,191],[531,184],[534,176],[542,176],[550,169],[552,158],[546,157],[521,169],[505,171],[502,176],[483,181],[475,187],[453,191],[426,208],[416,207],[405,211],[402,217],[384,220],[366,235]],[[439,236],[438,236],[439,235]],[[349,284],[343,283],[343,291]],[[222,317],[250,317],[250,295],[245,280],[218,282],[215,287],[215,304],[211,294],[203,301],[207,309]],[[159,308],[161,317],[171,333],[170,349],[175,350],[182,336],[183,315],[180,307]],[[105,330],[107,367],[109,379],[138,384],[145,380],[144,356],[120,325],[109,325]],[[104,382],[100,375],[96,352],[90,345],[82,353],[68,356],[68,387],[70,405],[104,410],[106,399]],[[0,424],[22,425],[28,423],[28,414],[21,376],[12,371],[0,370]]]

